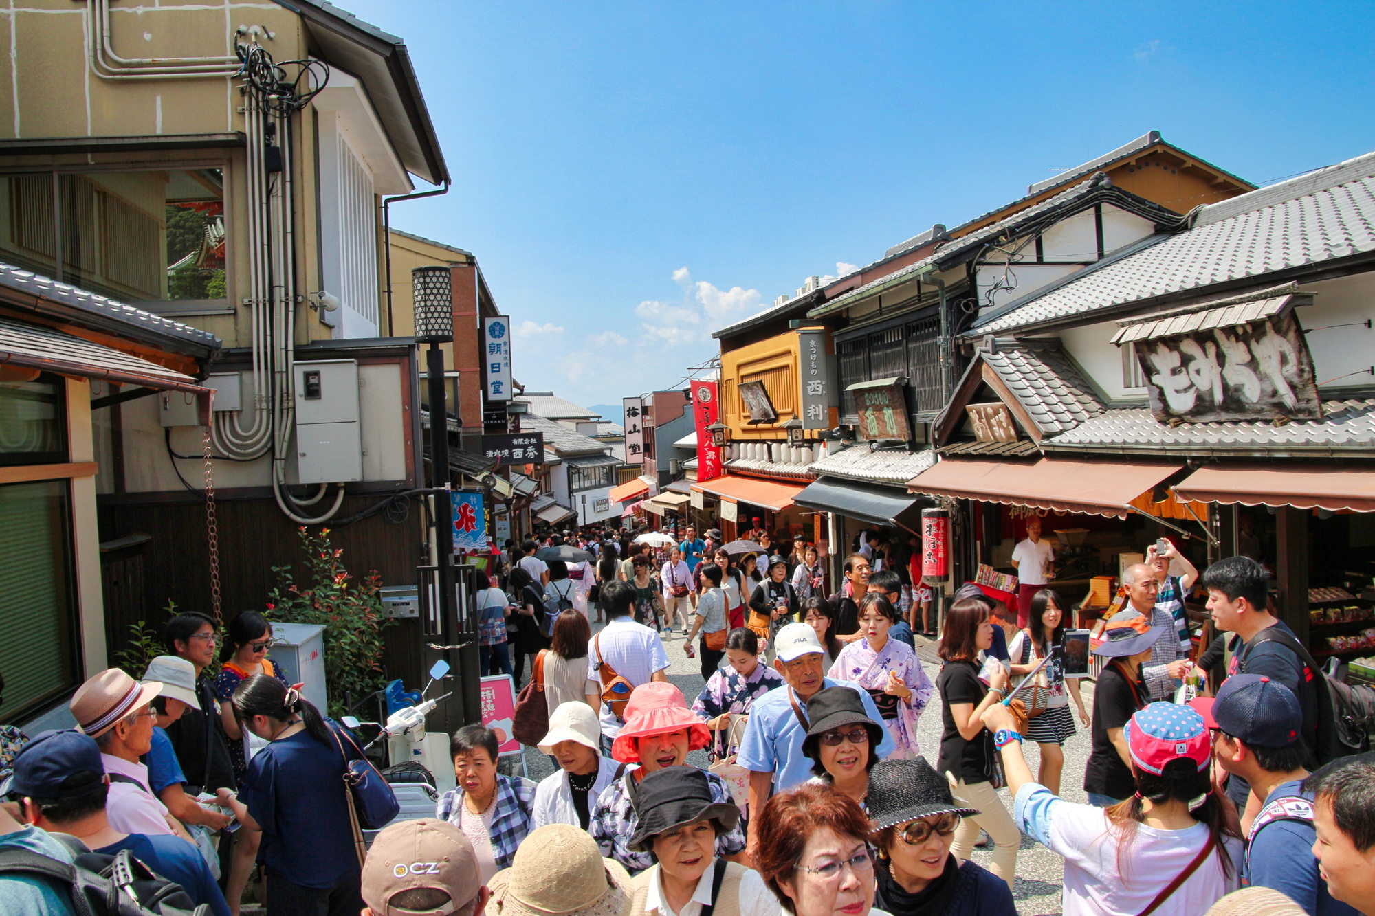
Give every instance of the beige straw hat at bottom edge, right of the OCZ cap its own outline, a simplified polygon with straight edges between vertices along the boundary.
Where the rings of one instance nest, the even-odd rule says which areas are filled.
[[[620,862],[602,858],[597,840],[572,824],[531,832],[487,886],[488,916],[628,916],[634,897]]]

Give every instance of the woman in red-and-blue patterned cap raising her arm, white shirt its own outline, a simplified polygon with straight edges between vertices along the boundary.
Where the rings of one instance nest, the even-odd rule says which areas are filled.
[[[1074,805],[1035,783],[1012,712],[983,712],[1018,827],[1064,857],[1064,913],[1192,916],[1236,888],[1236,809],[1213,784],[1211,737],[1188,706],[1151,703],[1123,728],[1136,792],[1112,807]]]

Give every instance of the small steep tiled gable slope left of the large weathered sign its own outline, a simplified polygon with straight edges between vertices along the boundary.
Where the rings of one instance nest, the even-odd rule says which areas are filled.
[[[1072,429],[1103,413],[1103,402],[1062,351],[1006,347],[979,351],[1042,433]]]

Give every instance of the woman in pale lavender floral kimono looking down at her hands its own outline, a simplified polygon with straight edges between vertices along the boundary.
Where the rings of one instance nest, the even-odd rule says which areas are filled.
[[[931,701],[935,685],[917,660],[917,653],[905,642],[888,637],[895,623],[898,608],[881,594],[866,594],[859,602],[859,633],[864,638],[842,649],[826,674],[833,681],[858,684],[873,699],[892,737],[890,756],[917,756],[921,754],[917,719]]]

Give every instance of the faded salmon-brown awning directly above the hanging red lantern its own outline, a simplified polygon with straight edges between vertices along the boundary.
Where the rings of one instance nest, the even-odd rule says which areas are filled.
[[[1122,461],[1042,458],[1033,464],[1012,464],[946,458],[909,480],[908,490],[932,497],[1126,519],[1133,499],[1181,469],[1182,465]]]

